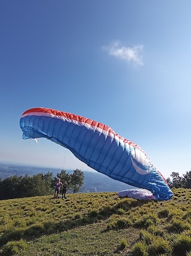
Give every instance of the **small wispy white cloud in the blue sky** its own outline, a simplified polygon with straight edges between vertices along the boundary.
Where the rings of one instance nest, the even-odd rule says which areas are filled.
[[[103,46],[103,49],[106,50],[110,56],[114,56],[118,59],[124,59],[127,62],[133,62],[134,64],[143,65],[143,59],[141,52],[143,46],[120,46],[119,43],[113,43],[109,46]]]

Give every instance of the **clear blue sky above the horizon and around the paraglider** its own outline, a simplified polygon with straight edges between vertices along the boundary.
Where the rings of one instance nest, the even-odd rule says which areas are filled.
[[[90,170],[45,139],[23,140],[32,107],[75,113],[137,143],[165,176],[190,171],[187,1],[0,2],[0,161]]]

